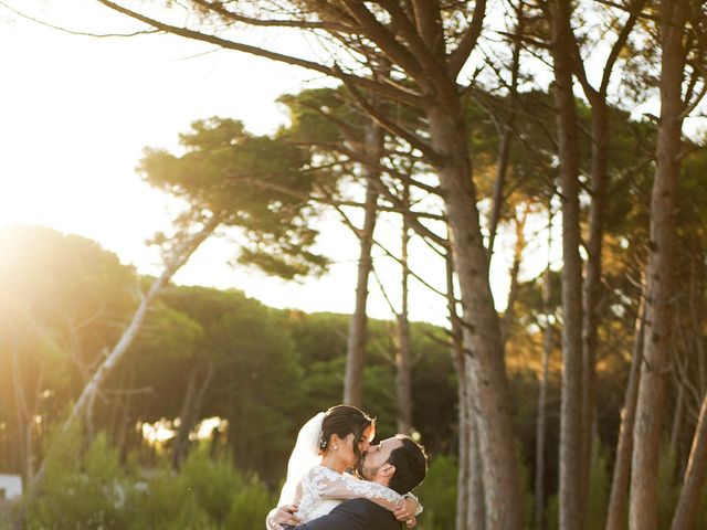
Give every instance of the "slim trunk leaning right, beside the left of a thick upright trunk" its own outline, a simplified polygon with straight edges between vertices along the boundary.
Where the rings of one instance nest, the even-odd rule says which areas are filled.
[[[639,312],[636,315],[629,384],[626,385],[623,409],[621,410],[621,426],[619,427],[616,460],[611,480],[606,530],[624,530],[626,528],[626,517],[629,515],[629,479],[631,477],[631,457],[633,455],[633,424],[636,415],[644,341],[645,296],[642,294]]]

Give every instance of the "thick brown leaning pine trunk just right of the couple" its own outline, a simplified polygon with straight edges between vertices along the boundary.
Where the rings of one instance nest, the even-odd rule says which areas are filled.
[[[495,530],[517,530],[523,524],[523,509],[500,322],[488,280],[476,191],[469,178],[463,113],[458,99],[445,103],[432,105],[428,118],[432,145],[441,159],[436,169],[461,286],[464,349],[469,351],[466,373],[476,409],[486,523]]]

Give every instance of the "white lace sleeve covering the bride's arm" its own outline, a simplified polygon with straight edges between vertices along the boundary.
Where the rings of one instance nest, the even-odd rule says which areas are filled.
[[[393,511],[404,501],[399,492],[380,484],[359,480],[350,475],[339,475],[326,467],[312,469],[309,478],[321,498],[325,499],[369,499]]]

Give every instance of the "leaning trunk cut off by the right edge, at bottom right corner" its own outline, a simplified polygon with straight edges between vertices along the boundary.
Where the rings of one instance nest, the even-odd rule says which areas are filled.
[[[707,473],[707,394],[705,394],[699,409],[699,420],[687,462],[683,490],[675,509],[671,530],[698,530],[698,527],[695,526],[698,522],[695,520],[695,515]]]

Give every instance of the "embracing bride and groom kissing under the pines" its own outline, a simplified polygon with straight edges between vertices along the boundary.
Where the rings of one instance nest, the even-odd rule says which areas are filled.
[[[422,506],[410,491],[426,474],[424,448],[404,434],[373,445],[376,421],[350,405],[305,423],[267,530],[400,530],[400,521],[414,527]]]

